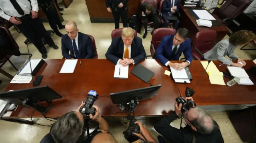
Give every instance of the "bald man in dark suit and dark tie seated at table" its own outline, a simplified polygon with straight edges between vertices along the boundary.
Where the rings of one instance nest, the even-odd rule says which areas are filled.
[[[93,59],[95,51],[91,38],[84,33],[78,32],[75,22],[68,21],[65,29],[67,34],[61,38],[63,57],[65,59]]]

